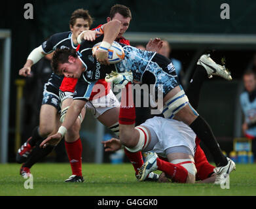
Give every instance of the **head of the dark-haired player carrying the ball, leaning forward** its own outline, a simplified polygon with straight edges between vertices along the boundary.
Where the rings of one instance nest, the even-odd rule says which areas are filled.
[[[80,78],[84,67],[74,49],[57,49],[52,56],[52,69],[55,74],[68,78]]]

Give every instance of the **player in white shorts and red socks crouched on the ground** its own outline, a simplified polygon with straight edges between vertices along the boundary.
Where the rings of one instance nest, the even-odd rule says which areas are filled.
[[[132,99],[130,83],[122,89],[119,114],[120,139],[129,138],[134,142],[130,152],[154,151],[168,162],[149,153],[147,161],[139,170],[139,180],[147,178],[150,170],[162,170],[175,182],[194,183],[196,167],[194,165],[194,148],[196,135],[192,129],[181,121],[154,117],[134,127],[136,114]],[[128,103],[128,104],[126,104]],[[131,105],[132,104],[132,105]]]

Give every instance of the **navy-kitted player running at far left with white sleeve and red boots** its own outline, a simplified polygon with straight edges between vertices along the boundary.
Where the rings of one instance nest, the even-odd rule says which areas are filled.
[[[73,12],[70,18],[69,26],[71,31],[64,33],[56,33],[46,40],[39,47],[35,48],[27,57],[26,64],[20,69],[19,74],[21,76],[29,76],[31,66],[46,54],[60,48],[70,48],[75,50],[77,48],[77,37],[79,34],[90,28],[92,24],[92,18],[88,13],[88,10],[78,9]],[[43,157],[52,152],[54,147],[49,146],[47,150],[39,148],[39,143],[55,129],[60,126],[60,97],[59,88],[62,84],[64,76],[58,76],[52,74],[48,82],[45,84],[45,90],[43,92],[43,102],[40,110],[40,124],[39,127],[35,127],[32,136],[26,143],[18,150],[16,154],[16,161],[18,163],[25,163],[20,169],[20,174],[26,178],[30,174],[30,168],[41,160]],[[81,117],[84,115],[82,110]],[[77,119],[77,122],[69,129],[69,134],[66,135],[66,140],[73,140],[73,138],[79,138],[79,130],[81,121]],[[77,128],[78,127],[78,128]],[[35,147],[35,148],[34,148]],[[32,150],[33,148],[33,150]],[[32,150],[32,152],[31,152]],[[31,154],[29,155],[29,153]],[[29,158],[27,159],[29,155]],[[81,172],[78,170],[77,172]],[[81,181],[82,176],[81,176]]]

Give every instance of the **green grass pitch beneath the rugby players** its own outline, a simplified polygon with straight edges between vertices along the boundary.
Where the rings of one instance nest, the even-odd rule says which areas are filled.
[[[132,165],[83,164],[84,183],[65,183],[68,163],[38,163],[31,169],[33,189],[24,188],[20,165],[0,164],[0,195],[86,195],[86,196],[170,196],[170,195],[256,195],[256,164],[236,165],[230,174],[230,189],[213,184],[137,182]]]

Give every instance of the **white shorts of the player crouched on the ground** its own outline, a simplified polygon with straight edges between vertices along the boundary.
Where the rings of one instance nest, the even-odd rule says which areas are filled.
[[[191,153],[194,153],[196,134],[185,123],[155,116],[141,125],[155,131],[158,142],[152,151],[161,157],[166,157],[165,151],[175,146],[186,146]]]

